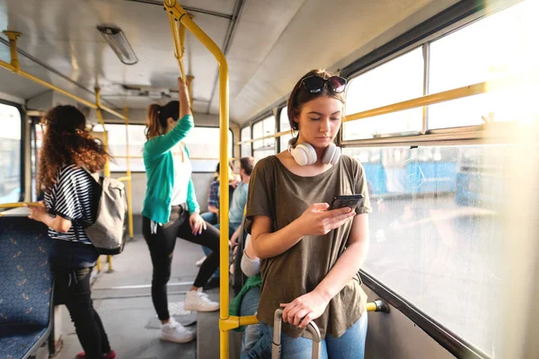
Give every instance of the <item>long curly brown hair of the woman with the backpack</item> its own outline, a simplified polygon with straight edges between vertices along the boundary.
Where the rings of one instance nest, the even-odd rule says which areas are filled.
[[[57,106],[49,109],[43,121],[47,127],[40,150],[40,191],[52,187],[57,172],[66,165],[102,171],[110,155],[86,131],[86,118],[80,110],[70,105]]]

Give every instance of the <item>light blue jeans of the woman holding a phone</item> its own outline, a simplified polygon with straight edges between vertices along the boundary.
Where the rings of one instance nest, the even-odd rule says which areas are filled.
[[[367,338],[367,311],[342,336],[326,335],[322,341],[322,359],[363,359]],[[261,321],[261,340],[247,356],[251,359],[270,359],[273,328]],[[305,337],[297,339],[281,334],[281,357],[286,359],[311,359],[313,341]]]

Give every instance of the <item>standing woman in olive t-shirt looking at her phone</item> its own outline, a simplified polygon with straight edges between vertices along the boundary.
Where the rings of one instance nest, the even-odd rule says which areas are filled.
[[[261,258],[261,340],[250,355],[270,350],[275,311],[283,309],[282,357],[307,358],[314,320],[323,357],[363,359],[367,295],[358,270],[367,257],[371,212],[365,171],[333,141],[344,115],[346,80],[323,70],[305,74],[288,98],[298,135],[288,150],[262,159],[252,172],[246,230]],[[362,194],[355,211],[330,209],[334,197]],[[259,356],[257,356],[259,355]]]

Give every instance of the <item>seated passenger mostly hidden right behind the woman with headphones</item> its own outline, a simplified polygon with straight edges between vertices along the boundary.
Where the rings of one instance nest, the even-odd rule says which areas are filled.
[[[247,238],[249,239],[250,237],[248,236]],[[240,293],[230,303],[230,315],[243,317],[254,315],[258,311],[262,285],[260,263],[260,258],[256,257],[252,250],[252,241],[247,240],[242,257],[242,271],[249,278]],[[260,325],[253,324],[240,327],[238,330],[243,330],[241,357],[242,359],[248,358],[252,347],[261,338]]]

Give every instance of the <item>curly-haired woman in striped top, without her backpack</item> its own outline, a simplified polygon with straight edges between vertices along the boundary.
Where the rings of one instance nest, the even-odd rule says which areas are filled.
[[[77,358],[113,359],[116,353],[91,298],[90,275],[98,253],[82,224],[95,217],[93,179],[84,168],[102,171],[109,154],[85,130],[86,118],[75,107],[50,109],[44,121],[38,188],[45,194],[45,206],[30,206],[30,218],[49,226],[55,299],[66,304],[75,324],[84,349]]]

